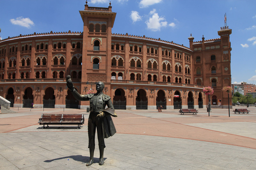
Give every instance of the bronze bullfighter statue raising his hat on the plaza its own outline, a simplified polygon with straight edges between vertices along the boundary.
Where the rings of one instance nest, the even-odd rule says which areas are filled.
[[[100,149],[100,161],[99,165],[104,164],[103,153],[105,143],[104,138],[113,136],[116,133],[116,128],[112,121],[111,116],[117,117],[115,113],[114,106],[111,102],[111,99],[108,95],[103,94],[104,83],[97,82],[95,94],[79,94],[70,78],[70,75],[67,76],[67,86],[68,89],[72,92],[76,100],[88,101],[90,100],[90,115],[88,119],[88,137],[89,137],[89,150],[90,150],[90,160],[86,163],[86,166],[90,166],[94,163],[93,154],[95,148],[95,131],[97,128],[97,136]],[[108,108],[105,109],[106,105]]]

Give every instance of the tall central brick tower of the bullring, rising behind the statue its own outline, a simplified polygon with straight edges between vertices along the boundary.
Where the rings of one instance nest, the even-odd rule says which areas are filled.
[[[86,82],[102,81],[110,89],[111,29],[116,18],[111,9],[111,3],[108,8],[89,7],[86,1],[79,11],[84,22],[81,92]],[[81,101],[81,107],[85,103]]]

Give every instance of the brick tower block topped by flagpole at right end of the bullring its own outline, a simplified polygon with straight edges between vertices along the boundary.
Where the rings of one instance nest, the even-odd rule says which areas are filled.
[[[224,86],[231,86],[229,35],[232,30],[221,27],[218,31],[220,38],[193,42],[192,35],[188,38],[190,49],[193,51],[194,84],[211,86],[214,93],[211,95],[212,108],[228,108],[228,94],[222,92]],[[232,100],[229,100],[229,105]]]

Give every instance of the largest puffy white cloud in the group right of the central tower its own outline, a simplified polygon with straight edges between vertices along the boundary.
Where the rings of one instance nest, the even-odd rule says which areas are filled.
[[[148,21],[145,22],[148,26],[148,29],[152,31],[160,31],[160,28],[163,26],[167,26],[167,22],[164,17],[159,17],[158,13],[154,13]]]

